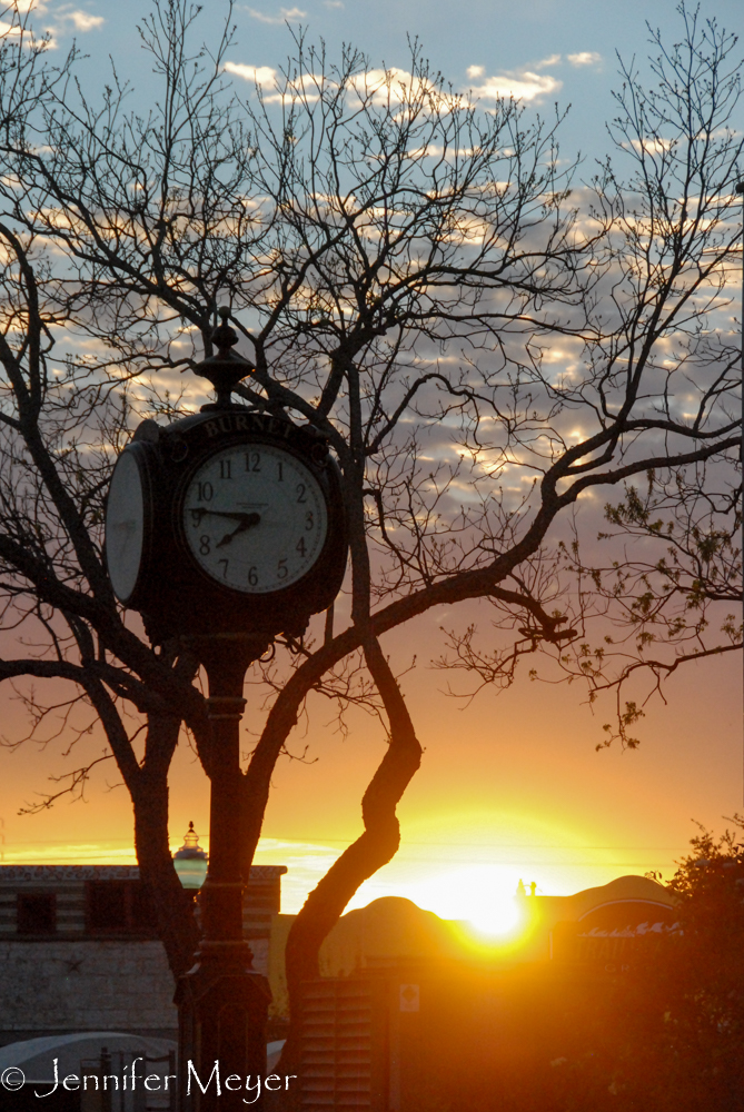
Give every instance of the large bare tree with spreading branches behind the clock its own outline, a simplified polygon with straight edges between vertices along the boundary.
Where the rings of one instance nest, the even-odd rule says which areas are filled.
[[[639,172],[628,188],[607,166],[582,209],[586,190],[572,197],[572,170],[558,172],[558,119],[529,122],[509,100],[482,112],[416,46],[401,73],[353,50],[334,66],[299,39],[276,86],[242,101],[224,77],[229,21],[211,52],[189,53],[196,14],[170,0],[142,23],[162,89],[148,116],[127,111],[117,79],[96,106],[50,83],[2,135],[0,560],[6,627],[32,629],[39,647],[0,675],[67,679],[103,724],[178,973],[196,927],[168,853],[167,771],[186,724],[209,775],[210,727],[189,653],[153,648],[116,605],[101,507],[133,420],[183,410],[153,370],[210,354],[229,301],[256,367],[246,404],[329,439],[351,555],[345,627],[330,613],[321,641],[315,626],[280,641],[262,674],[268,713],[241,773],[245,868],[314,693],[377,709],[388,735],[365,831],[292,927],[295,1004],[348,900],[395,854],[396,805],[420,761],[386,635],[486,599],[508,636],[480,652],[474,629],[453,633],[450,663],[507,684],[522,655],[581,632],[555,547],[579,499],[649,471],[694,485],[737,449],[733,367],[702,356],[737,235],[738,146],[720,137],[736,71],[730,37],[685,17],[667,64],[685,51],[695,64],[682,92],[662,75],[658,142],[647,110],[633,116],[633,77],[616,126],[636,128],[621,142]],[[677,201],[663,189],[685,158]],[[568,354],[552,363],[557,340]]]

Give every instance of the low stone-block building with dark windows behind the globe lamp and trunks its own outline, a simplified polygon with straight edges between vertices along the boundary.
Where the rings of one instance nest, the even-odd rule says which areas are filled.
[[[244,933],[267,974],[286,872],[255,865],[244,896]],[[72,1031],[172,1039],[172,996],[137,867],[0,866],[0,1045]]]

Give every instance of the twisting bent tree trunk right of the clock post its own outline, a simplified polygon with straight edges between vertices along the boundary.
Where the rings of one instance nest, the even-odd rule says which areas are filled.
[[[367,667],[383,698],[388,721],[388,748],[361,801],[364,834],[344,851],[307,897],[287,941],[289,1009],[299,1015],[302,981],[318,976],[324,939],[338,922],[359,886],[390,861],[400,844],[396,807],[421,763],[421,746],[406,702],[377,638],[364,646]],[[282,1055],[284,1069],[298,1052],[298,1024],[292,1023]]]

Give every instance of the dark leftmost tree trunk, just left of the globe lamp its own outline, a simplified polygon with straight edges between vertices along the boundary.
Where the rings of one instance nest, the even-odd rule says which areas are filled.
[[[168,845],[168,767],[179,729],[178,718],[150,716],[145,763],[132,793],[140,877],[155,906],[173,977],[191,967],[199,942],[194,902],[178,878]]]

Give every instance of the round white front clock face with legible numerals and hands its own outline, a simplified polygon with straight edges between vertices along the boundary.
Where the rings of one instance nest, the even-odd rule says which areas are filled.
[[[326,499],[308,467],[267,444],[239,444],[201,465],[183,499],[183,529],[198,564],[247,595],[281,590],[320,556]]]

